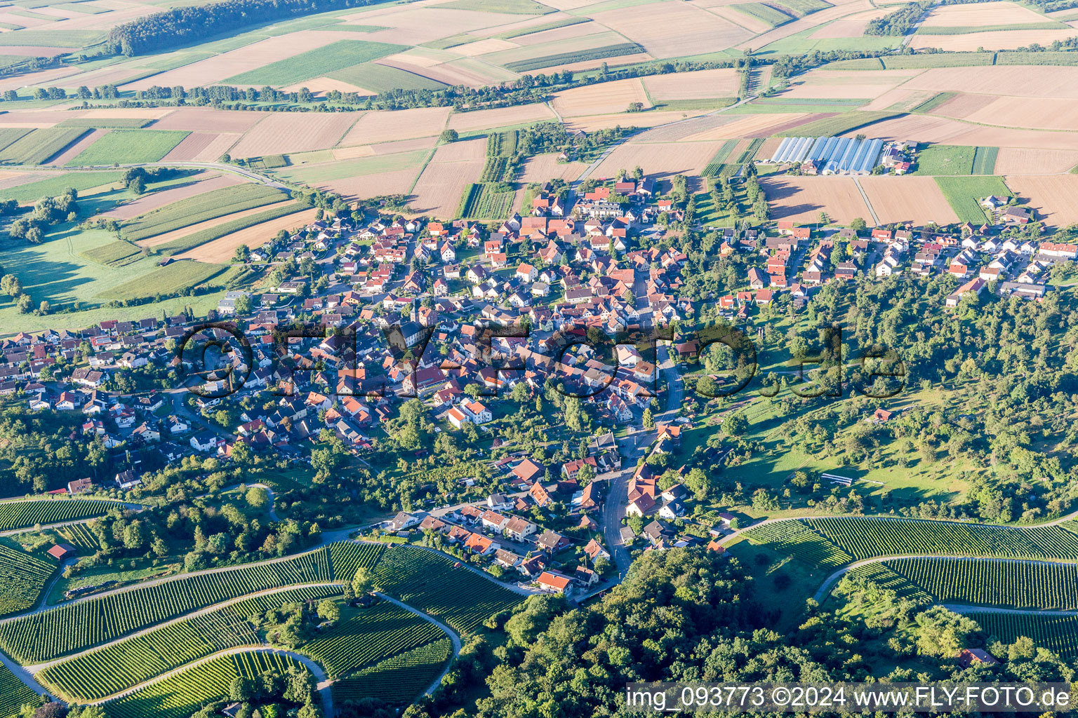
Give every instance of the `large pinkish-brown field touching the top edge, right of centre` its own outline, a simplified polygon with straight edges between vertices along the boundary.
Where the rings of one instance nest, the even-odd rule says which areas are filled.
[[[677,1],[589,13],[588,16],[639,43],[657,58],[714,53],[754,34],[706,10]]]

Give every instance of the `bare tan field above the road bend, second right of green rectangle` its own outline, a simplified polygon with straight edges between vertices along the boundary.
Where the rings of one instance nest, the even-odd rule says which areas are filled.
[[[230,154],[261,157],[326,150],[335,145],[361,115],[358,112],[276,112],[248,130]]]

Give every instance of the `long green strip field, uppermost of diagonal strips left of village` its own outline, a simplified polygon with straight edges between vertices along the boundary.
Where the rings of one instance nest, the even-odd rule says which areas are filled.
[[[124,239],[134,242],[284,199],[287,199],[287,196],[273,187],[237,184],[172,202],[135,217],[123,225],[121,234]]]

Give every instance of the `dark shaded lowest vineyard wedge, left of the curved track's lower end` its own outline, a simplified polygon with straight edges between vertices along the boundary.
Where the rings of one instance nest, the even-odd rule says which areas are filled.
[[[438,677],[451,651],[450,639],[442,638],[364,668],[333,684],[334,704],[362,698],[407,703]]]

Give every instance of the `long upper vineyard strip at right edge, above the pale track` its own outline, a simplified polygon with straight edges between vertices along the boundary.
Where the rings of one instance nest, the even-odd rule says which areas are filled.
[[[1010,529],[868,517],[801,522],[857,560],[911,554],[1078,560],[1078,534],[1060,526]]]

